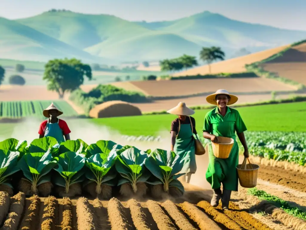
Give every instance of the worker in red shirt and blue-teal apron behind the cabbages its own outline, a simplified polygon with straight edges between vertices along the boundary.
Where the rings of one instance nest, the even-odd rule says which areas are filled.
[[[58,108],[53,104],[53,102],[47,109],[43,110],[43,115],[48,119],[40,124],[38,131],[39,138],[45,136],[52,136],[58,141],[58,143],[62,143],[65,140],[70,140],[69,133],[71,131],[68,128],[67,123],[57,118],[59,115],[62,114],[63,112],[58,110]]]

